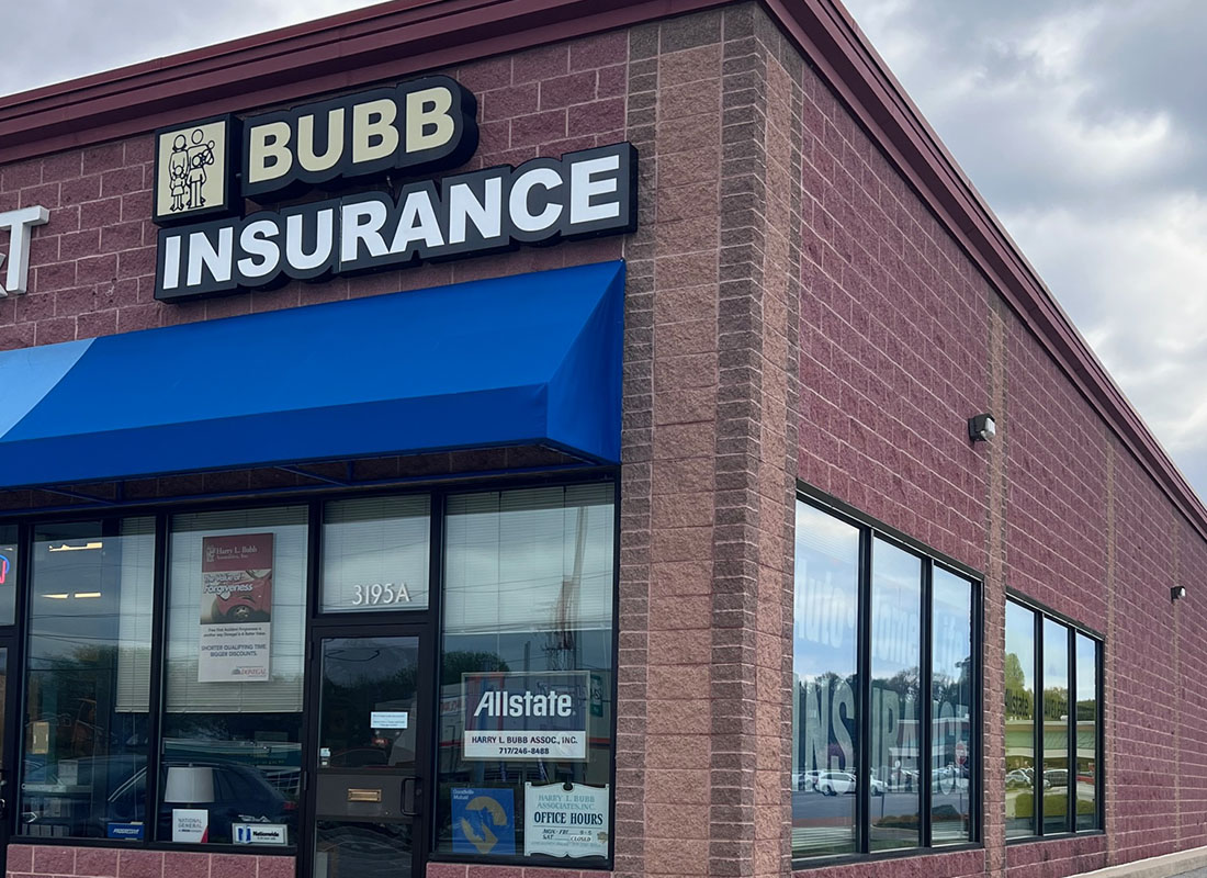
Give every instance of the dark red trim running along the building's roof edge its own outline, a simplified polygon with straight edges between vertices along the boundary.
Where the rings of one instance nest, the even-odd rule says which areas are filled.
[[[0,98],[0,164],[450,66],[724,0],[400,0]],[[1207,507],[838,0],[759,0],[1207,540]]]

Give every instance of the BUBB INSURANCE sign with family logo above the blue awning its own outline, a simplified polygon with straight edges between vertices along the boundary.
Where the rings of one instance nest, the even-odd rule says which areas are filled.
[[[637,153],[628,143],[414,179],[473,156],[476,114],[472,93],[430,76],[249,120],[161,130],[156,298],[186,301],[636,228]],[[386,185],[373,186],[374,176]],[[395,184],[400,178],[409,180]],[[340,181],[362,191],[331,197]],[[233,215],[244,199],[263,207],[316,186],[328,197]]]

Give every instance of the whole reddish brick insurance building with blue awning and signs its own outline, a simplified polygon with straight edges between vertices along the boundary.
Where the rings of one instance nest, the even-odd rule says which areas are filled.
[[[0,252],[11,878],[1207,847],[1207,510],[835,0],[4,98]]]

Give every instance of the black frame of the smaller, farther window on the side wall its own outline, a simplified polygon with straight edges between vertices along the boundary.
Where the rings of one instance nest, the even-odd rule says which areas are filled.
[[[1034,842],[1046,842],[1051,839],[1068,839],[1077,836],[1101,836],[1106,833],[1107,826],[1107,810],[1106,810],[1106,781],[1107,781],[1107,762],[1106,762],[1106,655],[1107,655],[1107,639],[1094,630],[1092,628],[1084,626],[1059,610],[1054,610],[1037,600],[1028,598],[1025,593],[1019,592],[1014,588],[1005,589],[1005,601],[1007,604],[1015,604],[1022,609],[1033,614],[1034,629],[1032,633],[1032,639],[1034,644],[1034,716],[1036,723],[1033,729],[1033,758],[1036,763],[1036,781],[1034,786],[1031,789],[1032,803],[1043,802],[1043,787],[1038,786],[1039,780],[1043,778],[1044,773],[1044,719],[1043,719],[1043,685],[1044,685],[1044,621],[1055,622],[1056,624],[1066,629],[1067,651],[1068,651],[1068,751],[1066,758],[1068,760],[1068,772],[1075,778],[1077,773],[1077,636],[1081,635],[1096,645],[1095,650],[1095,711],[1096,716],[1094,719],[1094,760],[1095,760],[1095,797],[1094,797],[1094,819],[1095,826],[1092,828],[1079,830],[1077,828],[1077,784],[1073,783],[1068,787],[1068,799],[1066,803],[1066,828],[1059,832],[1044,832],[1044,820],[1043,820],[1043,807],[1034,807],[1032,804],[1031,809],[1031,828],[1032,832],[1028,836],[1015,836],[1013,838],[1007,838],[1007,845],[1010,844],[1032,844]],[[1005,622],[1005,614],[1003,614],[1003,626]],[[1004,721],[1004,720],[1003,720]],[[1039,795],[1037,795],[1037,792]]]

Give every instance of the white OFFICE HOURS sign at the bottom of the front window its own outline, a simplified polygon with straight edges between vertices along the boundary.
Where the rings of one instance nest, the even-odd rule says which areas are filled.
[[[524,856],[607,856],[608,831],[606,784],[524,784]]]

